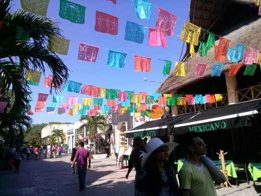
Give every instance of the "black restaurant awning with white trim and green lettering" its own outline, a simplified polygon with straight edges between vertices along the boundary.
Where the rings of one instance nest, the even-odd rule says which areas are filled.
[[[261,109],[261,99],[146,122],[125,131],[125,137],[182,135],[188,131],[206,132],[251,126],[250,117]]]

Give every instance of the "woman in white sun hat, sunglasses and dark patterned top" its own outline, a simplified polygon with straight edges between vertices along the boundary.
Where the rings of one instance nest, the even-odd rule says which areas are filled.
[[[135,195],[179,195],[176,173],[169,163],[169,154],[176,146],[175,142],[164,143],[159,138],[147,143],[147,154],[135,177]]]

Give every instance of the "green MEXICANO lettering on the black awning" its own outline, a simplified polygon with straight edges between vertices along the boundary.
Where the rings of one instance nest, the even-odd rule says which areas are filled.
[[[226,129],[226,122],[221,121],[217,123],[208,123],[203,125],[189,126],[189,131],[195,131],[195,132],[214,131],[218,129]]]

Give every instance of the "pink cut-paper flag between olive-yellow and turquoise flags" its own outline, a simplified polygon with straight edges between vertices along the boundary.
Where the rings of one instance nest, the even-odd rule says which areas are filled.
[[[99,52],[99,47],[79,43],[78,59],[95,62]]]

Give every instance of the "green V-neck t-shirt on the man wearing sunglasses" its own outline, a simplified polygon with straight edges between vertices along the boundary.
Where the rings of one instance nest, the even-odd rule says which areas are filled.
[[[214,180],[208,168],[202,163],[204,171],[201,171],[196,166],[184,162],[178,177],[180,188],[190,189],[190,195],[217,195]]]

